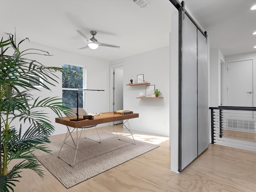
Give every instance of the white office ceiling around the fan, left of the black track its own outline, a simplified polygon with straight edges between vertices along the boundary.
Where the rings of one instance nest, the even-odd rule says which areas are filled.
[[[0,35],[14,33],[30,42],[113,61],[169,45],[170,18],[175,8],[168,0],[148,0],[140,8],[132,0],[0,0]],[[99,42],[118,48],[78,48],[96,30]],[[46,50],[47,51],[47,50]]]

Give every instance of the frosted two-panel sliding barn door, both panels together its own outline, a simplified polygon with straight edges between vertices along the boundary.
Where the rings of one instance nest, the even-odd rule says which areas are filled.
[[[180,65],[179,172],[209,145],[208,69],[206,38],[185,17],[182,19]]]

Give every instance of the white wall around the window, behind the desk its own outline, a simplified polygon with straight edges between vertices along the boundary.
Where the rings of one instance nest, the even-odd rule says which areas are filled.
[[[62,63],[73,64],[86,67],[86,84],[87,89],[100,89],[105,91],[87,91],[86,93],[86,111],[87,112],[108,112],[109,111],[109,62],[58,50],[55,48],[42,46],[38,44],[22,43],[21,50],[26,48],[36,48],[44,51],[48,51],[53,56],[38,56],[31,55],[30,57],[36,59],[38,62],[45,66],[62,67]],[[59,97],[62,98],[62,74],[58,73],[59,84],[56,86],[50,86],[52,92],[42,89],[42,92],[35,91],[35,98],[38,96],[44,97]],[[50,115],[50,120],[55,127],[54,134],[66,133],[66,127],[55,123],[57,117],[51,110],[46,110]],[[100,124],[98,126],[104,126]],[[18,126],[18,125],[17,125]]]

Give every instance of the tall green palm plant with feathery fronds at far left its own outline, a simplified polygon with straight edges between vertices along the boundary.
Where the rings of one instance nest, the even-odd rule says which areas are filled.
[[[34,98],[32,91],[38,90],[34,84],[50,90],[49,85],[58,83],[55,73],[65,74],[65,70],[26,58],[31,54],[49,54],[37,49],[20,51],[19,46],[24,40],[17,44],[16,36],[8,34],[8,39],[2,38],[0,42],[0,192],[14,191],[22,169],[32,169],[39,176],[44,176],[31,152],[50,152],[45,143],[50,142],[48,136],[53,133],[54,127],[45,109],[50,108],[59,118],[69,116],[71,112],[70,108],[62,105],[61,98]],[[7,52],[13,54],[8,55]],[[14,159],[18,159],[18,163],[8,167]]]

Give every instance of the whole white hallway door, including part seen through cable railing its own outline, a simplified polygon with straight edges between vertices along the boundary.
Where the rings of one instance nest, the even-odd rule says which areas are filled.
[[[252,75],[252,60],[227,62],[227,106],[253,107]],[[252,111],[230,110],[224,118],[228,129],[254,130]]]

